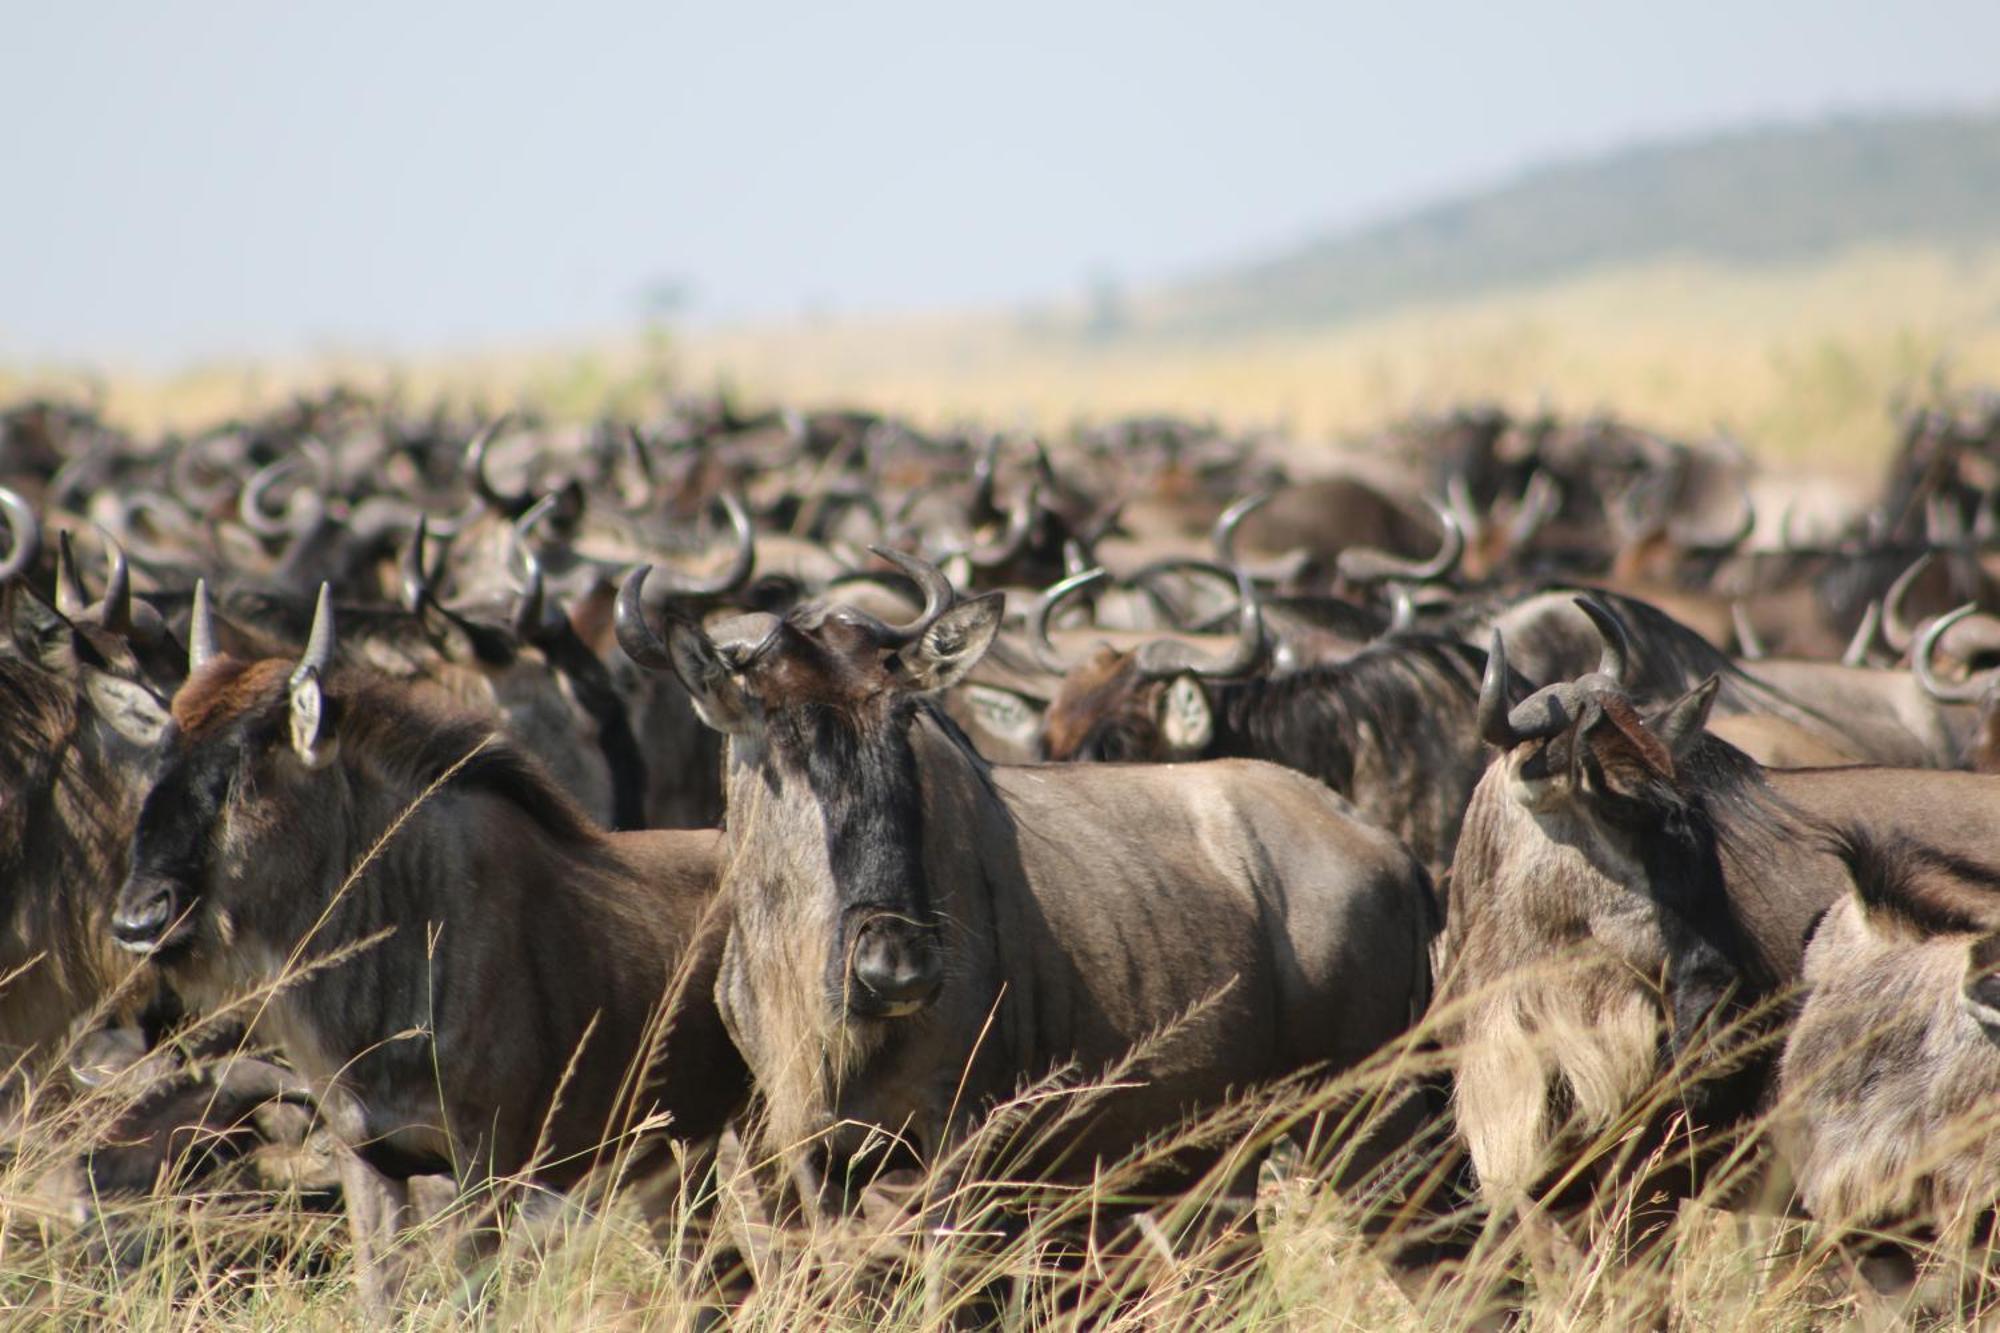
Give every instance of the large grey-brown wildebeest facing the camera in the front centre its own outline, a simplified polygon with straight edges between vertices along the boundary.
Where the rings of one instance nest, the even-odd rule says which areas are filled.
[[[714,636],[674,616],[662,640],[644,570],[618,602],[626,652],[728,735],[718,1001],[812,1207],[852,1199],[878,1131],[892,1169],[940,1163],[1052,1071],[1146,1049],[1060,1163],[1022,1165],[1088,1179],[1230,1089],[1410,1025],[1434,905],[1390,835],[1276,765],[988,765],[930,697],[988,648],[1000,596],[884,558],[924,590],[910,624],[808,604]]]

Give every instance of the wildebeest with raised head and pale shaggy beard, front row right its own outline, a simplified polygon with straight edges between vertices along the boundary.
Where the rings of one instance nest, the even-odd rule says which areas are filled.
[[[1648,1105],[1702,1131],[1764,1105],[1768,1047],[1718,1033],[1748,1047],[1760,1019],[1782,1017],[1814,919],[1846,891],[1816,829],[1904,829],[2000,853],[1990,779],[1760,769],[1702,731],[1714,681],[1642,717],[1620,687],[1624,626],[1602,602],[1582,604],[1604,634],[1600,669],[1512,709],[1496,634],[1480,733],[1500,757],[1452,863],[1440,1005],[1460,1051],[1460,1133],[1494,1207],[1536,1197],[1600,1135],[1644,1159],[1656,1135],[1610,1131]],[[1676,1071],[1660,1107],[1652,1097]],[[1656,1181],[1670,1209],[1698,1173],[1680,1161],[1660,1177],[1674,1177]],[[1630,1221],[1660,1217],[1638,1209]]]

